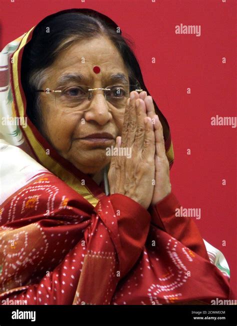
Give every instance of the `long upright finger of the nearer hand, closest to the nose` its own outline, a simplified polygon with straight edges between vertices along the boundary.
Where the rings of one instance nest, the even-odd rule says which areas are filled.
[[[121,147],[130,147],[135,138],[135,129],[136,129],[136,110],[135,110],[135,101],[139,97],[136,91],[131,91],[130,100],[129,100],[129,115],[128,122],[124,121],[124,128],[122,132]]]

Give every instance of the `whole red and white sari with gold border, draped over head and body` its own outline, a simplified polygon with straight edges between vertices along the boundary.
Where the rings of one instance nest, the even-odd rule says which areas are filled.
[[[175,217],[173,192],[147,210],[125,195],[105,195],[102,183],[61,157],[27,118],[20,69],[33,29],[0,53],[0,118],[8,121],[0,130],[0,304],[229,298],[224,256],[192,219]],[[171,135],[158,114],[171,167]]]

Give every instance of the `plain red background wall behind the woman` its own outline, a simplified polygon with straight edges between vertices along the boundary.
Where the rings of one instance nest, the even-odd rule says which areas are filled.
[[[110,16],[135,42],[146,87],[170,125],[173,192],[183,207],[201,208],[195,221],[226,257],[235,291],[236,128],[211,126],[210,117],[236,115],[236,1],[1,0],[0,48],[46,15],[73,7]],[[175,34],[180,23],[201,25],[201,35]]]

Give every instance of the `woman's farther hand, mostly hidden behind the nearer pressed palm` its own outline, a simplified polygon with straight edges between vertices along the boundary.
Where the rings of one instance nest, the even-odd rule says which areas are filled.
[[[169,180],[169,162],[165,154],[163,128],[158,116],[155,114],[154,104],[151,96],[145,91],[139,94],[145,102],[147,116],[151,118],[155,135],[155,186],[151,203],[156,204],[171,191]]]

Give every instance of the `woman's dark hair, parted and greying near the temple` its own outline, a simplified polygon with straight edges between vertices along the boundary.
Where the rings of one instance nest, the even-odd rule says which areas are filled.
[[[49,32],[46,32],[48,27]],[[132,42],[121,35],[120,28],[109,17],[92,9],[69,9],[54,13],[41,20],[34,28],[31,40],[24,47],[21,62],[21,83],[26,97],[26,113],[39,130],[41,118],[36,105],[38,93],[29,82],[30,76],[33,72],[52,64],[58,46],[67,38],[74,35],[78,39],[86,39],[99,34],[107,36],[114,43],[128,69],[129,79],[135,78],[141,88],[147,91],[137,59],[130,48],[131,45],[128,45]],[[155,107],[160,115],[156,104]],[[162,114],[161,118],[164,118]]]

